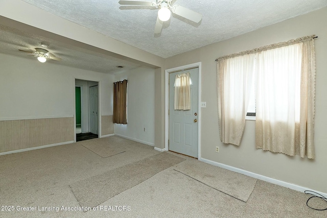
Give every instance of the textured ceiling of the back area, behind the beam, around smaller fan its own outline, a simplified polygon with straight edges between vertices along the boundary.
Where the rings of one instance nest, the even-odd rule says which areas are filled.
[[[61,58],[61,61],[48,60],[47,62],[110,74],[141,66],[139,63],[133,63],[99,52],[92,52],[69,43],[62,43],[35,34],[28,34],[3,25],[0,25],[0,36],[0,51],[4,54],[35,59],[35,57],[30,56],[32,54],[19,52],[18,49],[34,50],[36,47],[39,47],[49,50],[56,57]],[[49,48],[42,47],[41,42],[49,44]],[[124,66],[124,68],[118,68],[117,66]]]

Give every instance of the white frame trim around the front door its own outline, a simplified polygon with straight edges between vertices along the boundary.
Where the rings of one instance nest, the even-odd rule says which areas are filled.
[[[165,70],[165,151],[169,151],[169,74],[174,71],[182,71],[190,68],[199,68],[199,82],[198,82],[198,159],[201,158],[201,62],[174,67]]]

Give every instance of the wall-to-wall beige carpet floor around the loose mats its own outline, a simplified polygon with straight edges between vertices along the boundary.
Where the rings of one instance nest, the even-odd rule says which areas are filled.
[[[117,136],[97,140],[115,141],[126,152],[102,158],[81,146],[80,141],[0,156],[1,205],[15,208],[0,210],[0,217],[327,217],[327,210],[309,208],[306,203],[311,195],[299,191],[258,180],[247,202],[243,202],[175,171],[173,166],[108,199],[96,211],[61,210],[62,206],[80,207],[69,185],[160,154],[152,146]],[[320,209],[327,204],[321,199],[309,203]],[[129,209],[101,210],[101,205]],[[18,206],[36,210],[19,211]],[[56,207],[58,211],[40,211],[38,207]]]

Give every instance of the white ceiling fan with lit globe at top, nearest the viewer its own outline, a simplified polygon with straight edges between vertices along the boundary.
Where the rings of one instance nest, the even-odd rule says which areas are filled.
[[[184,8],[179,5],[174,5],[176,0],[156,0],[155,2],[147,1],[127,1],[121,0],[119,4],[121,5],[139,5],[139,6],[154,6],[160,8],[158,10],[158,17],[155,23],[154,34],[161,33],[162,25],[165,21],[170,19],[171,13],[178,16],[184,17],[193,22],[200,22],[202,19],[202,14],[192,11],[188,8]]]

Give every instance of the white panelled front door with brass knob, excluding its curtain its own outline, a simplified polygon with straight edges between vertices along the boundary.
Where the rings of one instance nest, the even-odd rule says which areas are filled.
[[[174,110],[175,76],[190,72],[191,110]],[[198,157],[198,81],[199,68],[169,74],[169,150]]]

